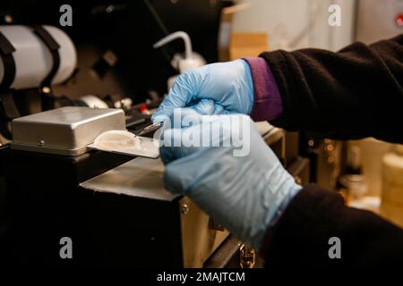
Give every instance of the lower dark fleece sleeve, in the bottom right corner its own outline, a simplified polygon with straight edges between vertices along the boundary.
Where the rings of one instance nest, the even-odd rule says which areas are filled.
[[[267,233],[262,256],[268,268],[403,265],[403,230],[314,184],[296,195]],[[329,257],[332,237],[340,240],[340,259]]]

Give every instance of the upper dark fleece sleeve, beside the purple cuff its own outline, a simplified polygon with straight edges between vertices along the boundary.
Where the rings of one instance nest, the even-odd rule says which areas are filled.
[[[403,142],[403,35],[338,53],[309,48],[261,57],[283,105],[270,123],[327,138]]]

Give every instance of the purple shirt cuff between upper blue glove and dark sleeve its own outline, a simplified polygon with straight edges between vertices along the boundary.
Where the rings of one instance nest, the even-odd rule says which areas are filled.
[[[270,66],[262,57],[245,57],[252,71],[254,103],[251,117],[255,122],[270,121],[283,113],[283,105]]]

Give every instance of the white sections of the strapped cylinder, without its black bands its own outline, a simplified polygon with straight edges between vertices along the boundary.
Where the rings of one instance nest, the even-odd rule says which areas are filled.
[[[66,80],[74,71],[77,64],[77,53],[73,41],[63,30],[53,26],[43,26],[56,40],[60,48],[60,65],[53,84]],[[52,55],[42,40],[27,26],[0,26],[0,31],[14,46],[15,78],[11,88],[39,88],[40,83],[47,77],[52,68]],[[4,76],[4,64],[0,58],[0,82]]]

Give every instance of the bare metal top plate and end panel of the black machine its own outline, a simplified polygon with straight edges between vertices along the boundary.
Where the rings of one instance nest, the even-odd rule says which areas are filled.
[[[80,186],[98,192],[174,201],[179,196],[164,188],[163,172],[164,165],[159,159],[135,158]],[[209,215],[187,197],[180,199],[178,208],[184,267],[201,267],[228,232],[213,230]]]

